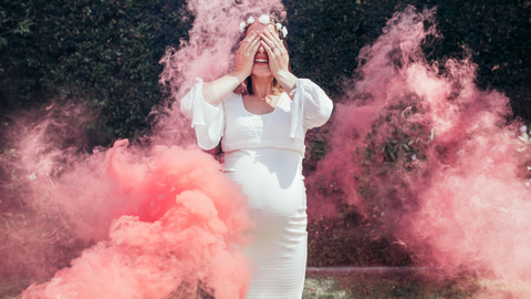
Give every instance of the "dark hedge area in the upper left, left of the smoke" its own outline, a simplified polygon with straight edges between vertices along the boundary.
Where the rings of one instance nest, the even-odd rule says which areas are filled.
[[[58,96],[81,100],[100,115],[93,127],[134,136],[145,130],[147,114],[162,99],[158,60],[166,45],[186,37],[183,4],[2,0],[4,14],[23,8],[28,16],[4,41],[3,76],[15,82],[4,93],[17,97],[8,106]]]

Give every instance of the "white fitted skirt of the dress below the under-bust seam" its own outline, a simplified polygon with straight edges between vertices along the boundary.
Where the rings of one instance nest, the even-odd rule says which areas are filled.
[[[306,199],[302,156],[279,148],[225,155],[225,173],[248,196],[257,224],[243,254],[253,278],[249,299],[300,299],[306,266]]]

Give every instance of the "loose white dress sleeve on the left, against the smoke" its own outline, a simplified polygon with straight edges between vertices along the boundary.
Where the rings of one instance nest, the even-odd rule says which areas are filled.
[[[191,120],[197,144],[202,150],[211,150],[223,136],[225,111],[222,103],[214,106],[205,101],[202,84],[198,78],[196,85],[180,100],[180,111]]]

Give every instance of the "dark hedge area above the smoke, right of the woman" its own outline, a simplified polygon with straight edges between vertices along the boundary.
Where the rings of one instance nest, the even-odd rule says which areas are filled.
[[[478,85],[506,92],[514,116],[531,120],[531,1],[285,1],[293,72],[314,80],[339,101],[344,78],[358,65],[360,49],[378,38],[387,19],[407,4],[437,7],[444,39],[426,41],[428,61],[444,65],[448,58],[470,56],[478,64]]]

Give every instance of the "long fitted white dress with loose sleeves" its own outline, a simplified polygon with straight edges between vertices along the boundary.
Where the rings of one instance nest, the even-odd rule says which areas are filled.
[[[332,101],[313,82],[296,80],[293,101],[283,93],[273,112],[248,112],[231,93],[218,106],[205,102],[202,81],[181,100],[200,147],[221,140],[223,172],[248,196],[257,223],[243,252],[253,269],[247,298],[302,297],[306,265],[306,196],[302,176],[304,134],[323,125]]]

